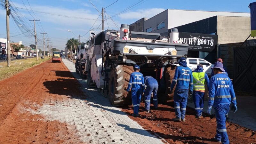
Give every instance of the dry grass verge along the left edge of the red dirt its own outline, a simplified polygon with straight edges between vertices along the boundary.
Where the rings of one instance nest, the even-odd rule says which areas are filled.
[[[39,65],[40,63],[51,59],[51,57],[45,59],[38,59],[38,61],[36,61],[36,58],[13,60],[11,61],[11,67],[7,67],[7,61],[0,61],[0,80],[9,78],[25,69]]]

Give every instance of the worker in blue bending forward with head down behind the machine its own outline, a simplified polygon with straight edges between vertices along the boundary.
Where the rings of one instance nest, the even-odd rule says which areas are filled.
[[[150,99],[151,99],[151,93],[153,92],[153,105],[154,108],[157,108],[158,102],[157,102],[157,89],[158,89],[158,83],[155,78],[152,76],[146,76],[144,77],[144,82],[146,86],[145,90],[145,111],[148,113],[150,112]]]

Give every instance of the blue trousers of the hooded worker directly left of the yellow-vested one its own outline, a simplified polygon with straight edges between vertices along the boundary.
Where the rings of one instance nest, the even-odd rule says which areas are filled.
[[[175,89],[173,99],[176,117],[184,119],[188,102],[188,89]]]

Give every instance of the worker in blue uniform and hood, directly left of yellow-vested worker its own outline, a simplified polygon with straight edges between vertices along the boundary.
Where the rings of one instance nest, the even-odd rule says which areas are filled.
[[[180,66],[175,69],[175,74],[171,84],[172,93],[172,90],[177,83],[173,96],[176,117],[172,120],[175,122],[185,122],[188,94],[192,94],[193,92],[193,76],[192,70],[187,67],[185,58],[180,58],[179,65]]]

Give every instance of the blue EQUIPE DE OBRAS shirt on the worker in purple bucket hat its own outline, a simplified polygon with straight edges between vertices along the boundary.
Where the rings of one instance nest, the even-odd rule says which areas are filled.
[[[232,81],[225,74],[216,74],[210,80],[209,106],[218,107],[229,104],[236,105],[236,95]]]

